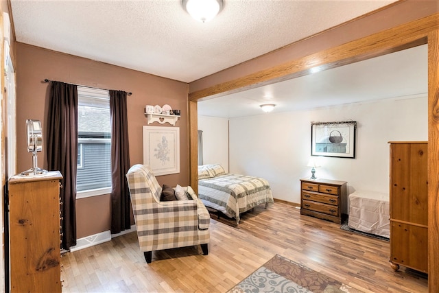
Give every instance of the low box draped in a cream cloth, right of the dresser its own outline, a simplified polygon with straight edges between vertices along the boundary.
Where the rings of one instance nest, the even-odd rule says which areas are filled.
[[[375,191],[355,191],[350,194],[348,226],[390,238],[389,195]]]

